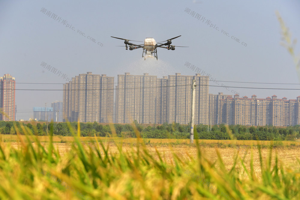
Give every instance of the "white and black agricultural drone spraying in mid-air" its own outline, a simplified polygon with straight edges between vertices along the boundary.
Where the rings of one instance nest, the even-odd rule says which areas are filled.
[[[181,35],[179,35],[177,37],[180,37],[180,36]],[[110,36],[110,37],[113,37],[113,36]],[[143,48],[142,58],[144,58],[144,60],[146,60],[146,57],[153,57],[153,55],[152,55],[153,53],[154,53],[154,57],[157,60],[157,47],[165,48],[165,49],[168,49],[168,50],[170,50],[170,49],[175,50],[175,46],[170,45],[170,44],[172,44],[172,40],[177,38],[177,37],[173,37],[169,40],[162,41],[162,42],[166,42],[166,43],[162,43],[162,42],[156,43],[154,38],[147,37],[144,40],[144,43],[140,44],[140,45],[130,43],[129,41],[134,41],[134,42],[143,42],[143,41],[128,40],[128,39],[123,39],[123,38],[119,38],[119,37],[114,37],[114,38],[117,38],[117,39],[120,39],[120,40],[125,40],[124,43],[126,45],[125,46],[126,50],[128,50],[127,45],[129,45],[129,50]],[[188,46],[176,46],[176,47],[188,47]],[[145,55],[144,55],[144,53],[145,53]]]

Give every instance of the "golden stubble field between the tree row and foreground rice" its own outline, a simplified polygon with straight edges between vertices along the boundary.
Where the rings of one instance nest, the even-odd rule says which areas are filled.
[[[49,136],[37,136],[38,139],[41,141],[42,145],[47,147],[49,145]],[[76,137],[77,139],[77,137]],[[88,150],[88,144],[93,146],[97,145],[95,143],[95,138],[93,137],[81,137],[82,143],[84,147]],[[116,146],[122,145],[123,152],[130,152],[137,151],[137,142],[139,141],[140,146],[143,142],[146,142],[146,148],[149,150],[149,153],[158,160],[158,156],[156,154],[156,150],[159,151],[162,155],[162,158],[165,162],[172,164],[174,163],[174,156],[176,154],[182,160],[190,160],[190,159],[197,159],[197,148],[196,148],[196,140],[194,140],[194,144],[189,144],[189,139],[136,139],[136,138],[97,138],[98,141],[102,141],[104,146],[109,148],[109,155],[110,154],[119,154],[119,150]],[[16,136],[16,135],[1,135],[1,145],[10,146],[12,148],[21,148],[21,142],[26,141],[25,136]],[[75,142],[74,137],[62,137],[62,136],[53,136],[53,145],[55,148],[58,148],[60,155],[63,157],[69,151],[72,151],[72,145]],[[64,141],[64,143],[61,143]],[[149,142],[150,141],[150,142]],[[238,152],[236,148],[226,147],[223,145],[223,141],[220,140],[198,140],[199,146],[202,151],[202,155],[207,158],[211,163],[217,161],[217,151],[220,153],[221,158],[223,160],[224,165],[226,166],[227,170],[230,170],[234,158],[236,157],[237,153],[239,153],[239,157],[244,159],[246,163],[246,168],[250,170],[250,159],[253,156],[253,167],[256,172],[256,175],[260,177],[260,162],[259,162],[259,153],[257,144],[260,145],[269,145],[271,141],[240,141],[240,140],[229,140],[229,143],[241,145],[241,149],[246,150],[247,154],[244,155],[241,152]],[[35,142],[32,139],[33,145],[35,146]],[[291,143],[296,144],[295,147],[286,147],[286,145],[290,145]],[[75,144],[76,146],[76,144]],[[101,145],[99,145],[100,151],[102,151]],[[89,151],[89,150],[88,150]],[[270,149],[269,148],[262,148],[262,160],[263,166],[266,165],[266,160],[269,157]],[[288,142],[284,141],[283,146],[280,148],[273,148],[272,149],[272,162],[271,166],[274,165],[275,161],[275,154],[278,155],[279,163],[286,169],[295,170],[295,166],[298,166],[297,159],[300,155],[300,142]],[[131,155],[131,154],[130,154]],[[219,163],[216,162],[215,164],[217,168],[219,167]],[[237,165],[235,166],[237,170],[242,170],[241,163],[238,161]],[[244,175],[241,175],[244,176]]]

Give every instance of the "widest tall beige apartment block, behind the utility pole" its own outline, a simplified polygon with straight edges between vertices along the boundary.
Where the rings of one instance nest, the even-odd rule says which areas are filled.
[[[187,124],[190,121],[191,83],[196,79],[195,124],[208,122],[208,77],[176,75],[118,75],[116,123]]]

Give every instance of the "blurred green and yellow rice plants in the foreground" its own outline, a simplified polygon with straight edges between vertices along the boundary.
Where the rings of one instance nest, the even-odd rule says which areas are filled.
[[[300,199],[299,159],[298,170],[284,168],[276,154],[275,162],[271,162],[272,148],[263,160],[258,145],[260,169],[253,168],[254,150],[247,149],[248,156],[252,157],[250,166],[246,166],[245,155],[236,154],[227,170],[217,148],[217,160],[211,162],[195,140],[195,147],[190,148],[197,149],[196,159],[188,152],[185,160],[180,159],[169,145],[173,160],[167,163],[157,149],[158,159],[150,154],[134,124],[133,128],[137,138],[130,151],[124,151],[122,140],[118,139],[114,142],[118,152],[112,153],[110,146],[96,137],[94,145],[98,151],[91,145],[86,149],[84,142],[76,139],[80,138],[80,132],[73,131],[71,151],[61,156],[53,146],[53,128],[44,147],[38,136],[22,126],[26,136],[23,140],[15,125],[19,145],[13,147],[11,143],[0,142],[0,198]],[[113,125],[111,129],[110,139],[114,139]],[[104,153],[100,154],[101,151]]]

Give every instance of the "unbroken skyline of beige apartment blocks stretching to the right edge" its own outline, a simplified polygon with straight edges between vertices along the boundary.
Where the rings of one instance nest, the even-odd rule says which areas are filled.
[[[132,123],[135,120],[142,124],[188,124],[190,83],[195,79],[195,124],[299,124],[300,96],[297,100],[287,100],[286,97],[277,99],[276,95],[261,99],[255,94],[251,98],[239,98],[239,94],[232,98],[222,92],[211,94],[209,76],[200,75],[176,73],[160,79],[149,73],[131,75],[125,72],[118,75],[118,85],[113,88],[113,77],[106,74],[79,74],[64,85],[63,113],[68,121]],[[101,93],[105,95],[101,96]]]

